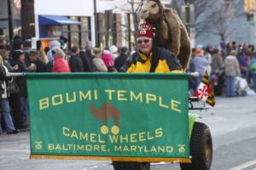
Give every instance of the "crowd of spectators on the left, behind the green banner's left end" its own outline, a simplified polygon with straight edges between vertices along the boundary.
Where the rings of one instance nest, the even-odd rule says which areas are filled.
[[[29,127],[26,78],[7,77],[8,72],[114,72],[129,54],[126,47],[92,48],[90,42],[84,48],[67,50],[64,40],[51,41],[46,48],[38,42],[37,49],[25,50],[21,37],[16,36],[13,42],[0,37],[0,135],[3,129],[15,134]]]

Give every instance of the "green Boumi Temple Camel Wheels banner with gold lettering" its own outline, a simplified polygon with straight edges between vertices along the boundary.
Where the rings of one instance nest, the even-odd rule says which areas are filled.
[[[187,74],[28,74],[26,79],[32,158],[188,161]]]

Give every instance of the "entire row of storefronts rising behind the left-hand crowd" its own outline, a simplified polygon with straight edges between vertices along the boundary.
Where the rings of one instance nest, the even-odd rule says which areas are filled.
[[[49,41],[67,37],[69,45],[134,48],[140,0],[0,0],[0,34]],[[163,1],[170,3],[170,0]]]

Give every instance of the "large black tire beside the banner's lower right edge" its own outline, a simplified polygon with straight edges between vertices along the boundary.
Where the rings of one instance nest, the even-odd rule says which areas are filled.
[[[212,164],[212,136],[209,127],[195,122],[190,139],[191,163],[180,163],[182,170],[210,170]]]

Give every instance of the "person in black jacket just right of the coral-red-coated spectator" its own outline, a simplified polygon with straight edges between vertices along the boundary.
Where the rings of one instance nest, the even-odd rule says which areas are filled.
[[[80,49],[78,46],[73,46],[71,48],[71,57],[69,59],[68,65],[72,72],[84,72],[84,66],[82,59],[79,56]]]

